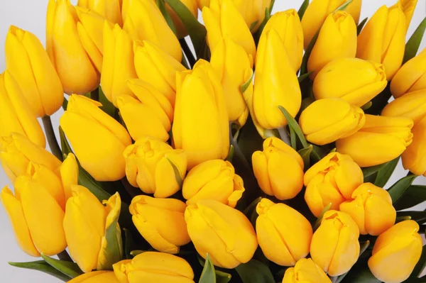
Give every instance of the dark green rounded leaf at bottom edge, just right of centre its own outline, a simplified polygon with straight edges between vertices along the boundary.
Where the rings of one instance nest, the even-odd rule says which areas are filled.
[[[235,270],[243,283],[275,283],[271,270],[258,260],[241,263]]]

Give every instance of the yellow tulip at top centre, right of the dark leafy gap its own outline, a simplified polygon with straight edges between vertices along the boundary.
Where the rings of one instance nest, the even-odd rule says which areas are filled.
[[[256,57],[256,45],[249,26],[243,16],[232,3],[232,0],[212,0],[210,6],[202,9],[202,18],[207,28],[207,41],[210,50],[214,52],[224,38],[231,38],[241,45],[247,54]],[[248,1],[244,1],[247,5]],[[260,1],[258,1],[260,2]],[[263,13],[265,13],[263,11]]]

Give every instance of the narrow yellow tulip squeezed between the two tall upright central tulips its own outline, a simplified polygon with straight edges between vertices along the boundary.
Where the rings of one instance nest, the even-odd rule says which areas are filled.
[[[249,116],[249,108],[241,86],[246,83],[246,74],[253,72],[253,58],[234,40],[225,38],[212,53],[210,63],[224,88],[229,121],[244,126]]]

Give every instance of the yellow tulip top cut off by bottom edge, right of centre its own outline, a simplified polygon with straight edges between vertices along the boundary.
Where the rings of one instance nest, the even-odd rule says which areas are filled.
[[[283,283],[332,283],[327,274],[311,258],[302,258],[295,267],[285,270]]]

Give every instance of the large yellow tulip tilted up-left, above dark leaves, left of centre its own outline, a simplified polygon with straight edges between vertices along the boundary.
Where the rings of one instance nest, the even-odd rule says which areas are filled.
[[[116,181],[125,175],[123,151],[131,138],[99,106],[86,96],[72,94],[60,126],[84,170],[97,181]]]

